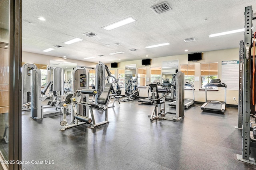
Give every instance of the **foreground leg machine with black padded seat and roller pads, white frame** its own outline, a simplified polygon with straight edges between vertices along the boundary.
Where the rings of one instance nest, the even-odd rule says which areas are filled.
[[[82,77],[82,81],[84,84],[88,84],[85,77]],[[89,78],[89,77],[88,77]],[[83,95],[86,95],[87,97],[91,95],[96,95],[97,91],[94,89],[81,89],[76,90],[74,92],[74,95],[71,98],[66,98],[65,95],[62,96],[62,111],[63,111],[63,120],[60,122],[60,125],[62,125],[61,130],[65,130],[67,128],[76,127],[78,125],[83,125],[85,123],[90,124],[90,128],[94,128],[103,124],[108,123],[108,104],[110,102],[111,96],[114,96],[116,94],[110,94],[112,89],[112,83],[106,83],[102,93],[98,96],[98,104],[88,102],[84,100]],[[87,98],[88,99],[88,98]],[[66,119],[66,109],[68,108],[68,105],[72,106],[72,113],[71,113],[71,122],[68,124]],[[82,106],[84,108],[84,111],[86,112],[80,112],[79,106]],[[90,116],[88,116],[88,109],[90,110]],[[105,113],[105,119],[102,122],[96,122],[94,118],[94,110],[98,111],[104,111]],[[86,113],[86,114],[84,114]]]

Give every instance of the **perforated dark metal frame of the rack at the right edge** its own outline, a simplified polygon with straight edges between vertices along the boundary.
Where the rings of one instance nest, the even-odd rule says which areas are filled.
[[[243,61],[243,90],[242,90],[242,155],[236,154],[237,160],[256,165],[255,159],[250,158],[250,146],[255,147],[256,142],[251,139],[250,113],[251,113],[251,48],[252,48],[252,6],[245,7],[244,12],[244,61]],[[255,42],[253,42],[255,43]],[[241,45],[240,45],[241,50]],[[255,63],[253,63],[255,64]],[[241,105],[240,105],[241,106]]]

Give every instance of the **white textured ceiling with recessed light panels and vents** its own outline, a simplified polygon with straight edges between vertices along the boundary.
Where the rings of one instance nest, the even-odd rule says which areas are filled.
[[[112,63],[234,48],[244,39],[242,32],[215,38],[208,35],[243,28],[244,7],[252,5],[256,10],[256,0],[166,0],[172,10],[155,14],[150,7],[162,2],[165,1],[23,0],[22,50]],[[38,20],[40,16],[46,21]],[[110,31],[102,28],[129,16],[137,21]],[[86,32],[98,36],[84,36]],[[183,41],[192,37],[195,42]],[[63,43],[72,38],[83,41],[71,45]],[[166,42],[170,45],[145,48]],[[55,50],[42,51],[47,48]],[[138,51],[130,51],[131,48]],[[124,53],[108,55],[117,51]],[[96,58],[84,59],[86,57]]]

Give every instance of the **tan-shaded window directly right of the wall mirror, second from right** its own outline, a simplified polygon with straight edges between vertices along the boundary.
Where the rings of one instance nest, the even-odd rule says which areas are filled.
[[[185,83],[189,82],[194,85],[195,81],[195,64],[184,64],[180,65],[180,71],[184,73]],[[186,88],[190,88],[188,86],[185,86]]]

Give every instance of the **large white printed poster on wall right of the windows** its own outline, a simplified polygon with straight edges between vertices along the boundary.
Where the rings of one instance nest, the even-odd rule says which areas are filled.
[[[239,89],[239,60],[222,61],[221,62],[222,79],[228,87],[227,90]]]

